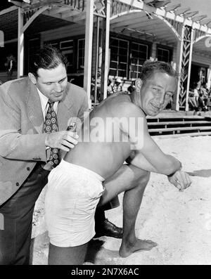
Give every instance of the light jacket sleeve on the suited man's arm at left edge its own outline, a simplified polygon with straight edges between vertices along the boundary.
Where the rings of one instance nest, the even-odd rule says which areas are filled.
[[[22,134],[21,110],[0,88],[0,155],[13,160],[46,161],[46,134]]]

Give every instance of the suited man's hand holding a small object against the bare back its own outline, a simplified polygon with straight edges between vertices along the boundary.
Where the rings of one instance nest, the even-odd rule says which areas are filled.
[[[77,144],[78,135],[73,131],[56,131],[46,136],[45,145],[68,152]]]

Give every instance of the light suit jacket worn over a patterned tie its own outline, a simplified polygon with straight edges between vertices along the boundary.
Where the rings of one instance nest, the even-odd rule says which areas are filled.
[[[58,103],[58,129],[66,130],[72,117],[83,119],[87,94],[68,83]],[[46,162],[44,117],[37,87],[28,77],[0,86],[0,205],[23,184],[38,161]]]

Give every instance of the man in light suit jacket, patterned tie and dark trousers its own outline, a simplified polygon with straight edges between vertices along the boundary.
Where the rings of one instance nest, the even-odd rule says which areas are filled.
[[[62,153],[77,144],[67,128],[72,117],[83,120],[87,94],[68,83],[65,63],[47,46],[28,77],[0,87],[0,264],[29,264],[34,204]],[[101,234],[121,236],[121,228],[101,223]]]

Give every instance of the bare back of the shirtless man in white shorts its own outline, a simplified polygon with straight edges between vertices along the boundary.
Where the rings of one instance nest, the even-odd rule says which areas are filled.
[[[117,93],[94,108],[78,132],[79,142],[64,160],[91,169],[104,179],[113,175],[131,153],[129,136],[115,121],[124,115],[127,105],[132,105],[129,96]]]

